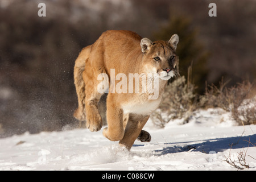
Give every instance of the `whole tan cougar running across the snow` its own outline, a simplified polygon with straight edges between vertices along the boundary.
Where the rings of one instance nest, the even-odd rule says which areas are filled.
[[[98,101],[102,94],[97,90],[101,80],[97,80],[97,77],[100,73],[106,73],[109,77],[107,84],[110,85],[110,69],[115,69],[115,76],[124,73],[128,78],[129,73],[158,73],[161,78],[168,74],[164,69],[170,68],[172,76],[175,76],[176,59],[174,57],[170,60],[170,57],[176,56],[178,41],[177,35],[173,35],[168,42],[151,42],[131,31],[104,32],[94,44],[82,49],[77,57],[74,78],[79,107],[74,116],[80,121],[86,120],[86,127],[90,131],[101,129]],[[157,56],[160,61],[154,59]],[[137,138],[142,142],[149,142],[150,134],[142,128],[150,113],[158,107],[167,78],[169,76],[164,80],[159,79],[159,97],[156,100],[148,100],[150,93],[108,93],[108,127],[103,130],[103,135],[113,141],[119,140],[119,144],[129,150]],[[116,80],[115,85],[117,84]],[[140,89],[141,87],[140,85]]]

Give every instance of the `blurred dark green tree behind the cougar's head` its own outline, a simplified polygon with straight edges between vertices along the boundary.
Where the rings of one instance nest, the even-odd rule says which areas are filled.
[[[207,60],[209,52],[205,51],[197,38],[198,31],[192,26],[191,20],[185,16],[171,16],[168,24],[156,32],[154,39],[169,40],[172,34],[179,35],[176,53],[179,56],[180,75],[188,76],[188,67],[192,65],[192,83],[197,92],[203,93],[207,77]]]

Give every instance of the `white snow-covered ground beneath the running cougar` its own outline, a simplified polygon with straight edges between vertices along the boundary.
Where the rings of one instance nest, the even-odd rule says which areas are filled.
[[[225,156],[238,161],[238,152],[246,152],[245,170],[256,170],[256,147],[247,142],[255,145],[256,125],[236,126],[221,109],[200,110],[189,123],[180,122],[156,129],[148,121],[144,130],[151,142],[135,141],[131,151],[103,137],[102,130],[65,127],[3,138],[0,170],[237,170]]]

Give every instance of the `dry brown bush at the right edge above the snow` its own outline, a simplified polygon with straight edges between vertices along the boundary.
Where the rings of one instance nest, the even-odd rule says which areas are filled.
[[[200,96],[200,107],[221,107],[232,113],[239,125],[256,124],[256,97],[251,94],[253,84],[243,81],[231,88],[226,88],[223,79],[220,86],[208,85],[205,94]]]

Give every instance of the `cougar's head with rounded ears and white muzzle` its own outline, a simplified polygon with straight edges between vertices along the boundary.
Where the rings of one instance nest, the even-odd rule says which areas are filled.
[[[179,42],[177,34],[172,35],[169,41],[155,41],[143,38],[141,48],[143,52],[142,62],[146,73],[158,73],[162,80],[169,80],[179,75],[175,66],[177,63],[176,47]]]

